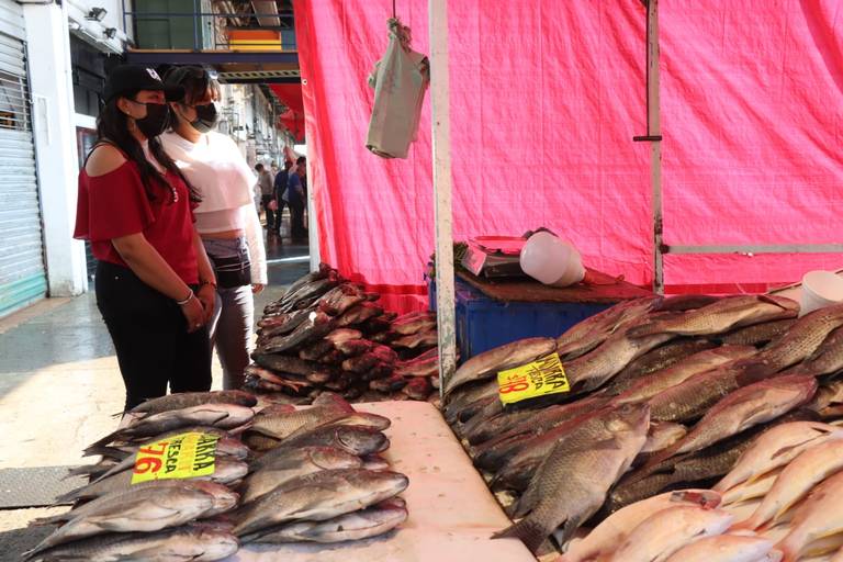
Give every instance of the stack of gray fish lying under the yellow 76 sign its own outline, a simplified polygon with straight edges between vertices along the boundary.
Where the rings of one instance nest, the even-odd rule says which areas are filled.
[[[90,483],[59,498],[87,501],[64,514],[33,521],[60,525],[25,560],[195,560],[227,558],[239,548],[233,526],[213,520],[236,508],[232,490],[248,473],[248,448],[235,432],[251,423],[257,398],[243,391],[172,394],[130,412],[131,423],[100,439],[81,467]],[[133,483],[138,450],[186,432],[212,435],[214,470],[206,476]],[[210,459],[207,459],[210,461]]]

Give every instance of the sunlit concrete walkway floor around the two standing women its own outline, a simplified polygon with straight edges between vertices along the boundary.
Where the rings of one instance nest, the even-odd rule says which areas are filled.
[[[269,286],[256,297],[258,317],[285,285],[307,272],[307,251],[269,238]],[[222,387],[221,381],[214,358],[213,387]],[[81,450],[116,427],[112,415],[124,398],[93,293],[47,299],[0,321],[0,470],[81,464]],[[29,529],[29,521],[66,509],[0,510],[0,560],[20,560],[53,529]]]

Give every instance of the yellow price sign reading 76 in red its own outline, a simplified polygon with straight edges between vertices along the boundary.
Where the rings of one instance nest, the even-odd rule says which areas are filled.
[[[132,483],[194,479],[214,473],[218,436],[190,431],[137,450]]]

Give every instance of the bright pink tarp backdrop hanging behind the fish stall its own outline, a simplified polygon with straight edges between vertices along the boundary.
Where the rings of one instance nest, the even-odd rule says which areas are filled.
[[[392,2],[294,8],[323,260],[418,304],[429,94],[407,160],[363,146]],[[427,0],[397,12],[428,53]],[[672,0],[660,16],[665,241],[841,241],[841,3]],[[650,150],[631,140],[645,133],[641,2],[452,1],[449,31],[456,238],[543,225],[586,265],[649,283]],[[838,258],[668,257],[665,271],[676,290],[754,289]]]

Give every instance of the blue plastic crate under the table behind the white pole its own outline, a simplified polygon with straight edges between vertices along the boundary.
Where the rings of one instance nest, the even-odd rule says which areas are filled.
[[[454,280],[457,347],[460,361],[490,349],[531,337],[558,337],[610,304],[503,303],[490,299],[459,278]],[[430,310],[436,310],[436,283],[428,279]]]

